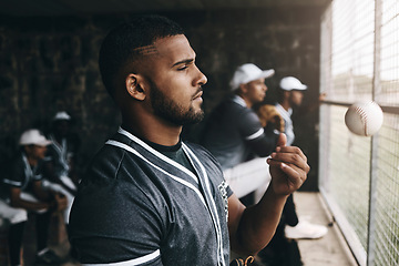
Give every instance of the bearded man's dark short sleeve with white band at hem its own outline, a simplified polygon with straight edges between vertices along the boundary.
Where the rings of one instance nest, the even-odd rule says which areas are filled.
[[[70,216],[70,241],[73,254],[84,264],[162,265],[156,255],[161,227],[143,192],[127,182],[103,180],[79,188]]]

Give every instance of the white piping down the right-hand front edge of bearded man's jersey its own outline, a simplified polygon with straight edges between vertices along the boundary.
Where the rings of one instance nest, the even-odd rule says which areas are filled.
[[[209,202],[211,202],[212,208],[213,208],[213,212],[211,212],[211,216],[212,216],[212,219],[213,219],[213,223],[215,226],[215,231],[216,231],[217,247],[218,247],[217,248],[217,262],[218,263],[221,262],[222,265],[225,266],[226,263],[225,263],[224,256],[223,256],[223,234],[222,234],[222,228],[221,228],[221,222],[219,222],[219,217],[217,214],[215,201],[211,193],[211,186],[209,186],[209,180],[208,180],[207,173],[205,171],[204,165],[201,163],[201,161],[197,158],[197,156],[184,143],[182,143],[182,146],[183,146],[183,150],[190,154],[190,156],[187,156],[190,158],[190,161],[192,161],[192,158],[194,158],[196,161],[196,163],[200,165],[201,171],[203,173],[203,176],[205,180],[205,187],[206,187],[206,190],[204,190],[204,191],[206,191],[206,193],[208,194],[208,198],[209,198]]]

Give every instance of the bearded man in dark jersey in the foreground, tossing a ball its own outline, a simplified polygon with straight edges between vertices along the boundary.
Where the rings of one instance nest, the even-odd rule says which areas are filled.
[[[182,126],[202,120],[206,76],[175,22],[137,17],[112,30],[100,71],[122,125],[94,156],[70,216],[72,249],[88,265],[228,265],[267,245],[287,196],[309,166],[282,135],[268,161],[270,188],[245,208],[217,161],[183,143]]]

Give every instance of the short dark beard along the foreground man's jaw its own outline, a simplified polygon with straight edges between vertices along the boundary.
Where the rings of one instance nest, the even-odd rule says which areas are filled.
[[[167,98],[157,85],[150,80],[151,83],[151,104],[154,113],[160,117],[175,124],[188,125],[201,122],[204,119],[204,111],[195,111],[193,105],[188,109],[183,108],[172,99]]]

